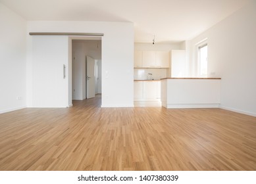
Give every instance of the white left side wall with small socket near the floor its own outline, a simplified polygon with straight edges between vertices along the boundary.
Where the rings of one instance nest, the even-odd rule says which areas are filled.
[[[0,3],[0,25],[2,113],[26,107],[26,20]]]

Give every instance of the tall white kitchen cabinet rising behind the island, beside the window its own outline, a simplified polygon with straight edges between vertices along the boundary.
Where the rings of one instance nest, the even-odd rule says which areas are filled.
[[[170,51],[170,68],[167,68],[166,74],[171,78],[182,78],[186,75],[185,50]]]

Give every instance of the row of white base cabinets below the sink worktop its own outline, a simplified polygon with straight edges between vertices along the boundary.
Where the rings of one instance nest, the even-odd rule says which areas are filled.
[[[134,81],[134,101],[160,101],[161,81]]]

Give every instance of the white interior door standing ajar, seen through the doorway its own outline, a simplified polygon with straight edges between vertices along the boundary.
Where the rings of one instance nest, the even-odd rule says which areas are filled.
[[[86,57],[87,99],[95,97],[95,60]]]

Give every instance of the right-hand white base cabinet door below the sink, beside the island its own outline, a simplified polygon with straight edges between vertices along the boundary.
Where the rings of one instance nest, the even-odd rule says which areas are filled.
[[[144,98],[147,101],[157,99],[157,81],[144,81]]]

